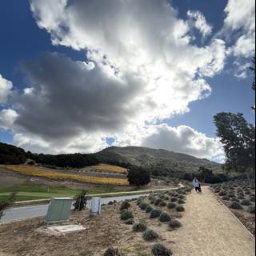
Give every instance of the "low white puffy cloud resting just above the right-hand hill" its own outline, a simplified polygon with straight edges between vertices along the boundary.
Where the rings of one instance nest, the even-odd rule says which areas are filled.
[[[208,138],[190,126],[170,127],[163,123],[147,126],[139,134],[126,137],[121,135],[114,142],[117,146],[147,146],[190,154],[198,158],[208,158],[221,162],[224,152],[218,138]]]

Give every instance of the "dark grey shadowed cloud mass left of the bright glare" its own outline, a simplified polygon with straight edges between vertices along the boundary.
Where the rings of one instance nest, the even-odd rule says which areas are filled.
[[[26,62],[23,69],[33,87],[13,98],[16,124],[45,138],[122,129],[143,103],[138,99],[143,81],[137,74],[117,77],[58,54]]]

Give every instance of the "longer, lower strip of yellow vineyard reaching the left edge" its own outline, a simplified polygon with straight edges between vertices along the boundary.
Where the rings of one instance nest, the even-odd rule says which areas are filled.
[[[52,180],[65,181],[72,180],[76,182],[86,182],[93,184],[103,184],[103,185],[118,185],[118,186],[127,186],[128,181],[122,178],[102,178],[94,176],[81,176],[78,174],[62,174],[51,170],[42,170],[34,166],[7,166],[2,165],[2,167],[7,170],[12,170],[19,174],[24,174],[27,176],[39,177],[39,178],[48,178]]]

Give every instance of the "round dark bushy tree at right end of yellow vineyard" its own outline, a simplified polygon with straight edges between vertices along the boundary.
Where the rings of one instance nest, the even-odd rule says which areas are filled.
[[[132,186],[144,186],[150,183],[150,173],[139,166],[130,166],[127,178]]]

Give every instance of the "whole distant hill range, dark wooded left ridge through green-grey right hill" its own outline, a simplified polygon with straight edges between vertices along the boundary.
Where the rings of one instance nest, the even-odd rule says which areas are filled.
[[[154,150],[139,146],[117,147],[112,146],[95,154],[31,154],[21,148],[0,142],[0,164],[20,164],[26,159],[33,159],[44,166],[82,168],[98,163],[129,168],[142,166],[156,176],[197,173],[199,167],[222,171],[222,165],[206,159],[192,157],[188,154],[179,154],[168,150]]]

